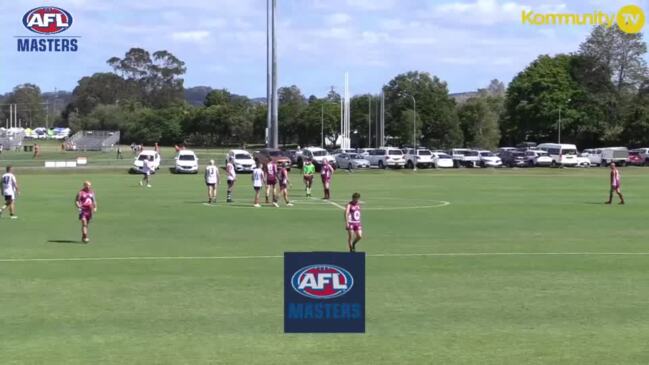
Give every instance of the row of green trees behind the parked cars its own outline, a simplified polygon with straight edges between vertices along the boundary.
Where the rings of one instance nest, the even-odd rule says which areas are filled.
[[[383,88],[385,136],[392,145],[411,145],[414,134],[418,145],[432,148],[493,149],[524,141],[556,141],[559,133],[562,141],[582,148],[646,146],[646,53],[640,33],[596,27],[574,53],[540,55],[507,87],[493,80],[464,100],[450,95],[446,82],[437,76],[406,72]],[[264,143],[263,101],[209,89],[202,105],[188,103],[182,78],[185,63],[170,52],[151,54],[133,48],[107,63],[112,72],[79,80],[56,118],[58,126],[120,130],[126,143]],[[306,97],[292,85],[281,87],[278,95],[281,144],[320,145],[321,134],[325,141],[336,140],[341,96],[334,89],[322,97]],[[196,99],[196,92],[192,97]],[[31,103],[38,109],[42,99],[38,86],[25,84],[3,102]],[[380,143],[379,105],[377,94],[351,98],[352,145]]]

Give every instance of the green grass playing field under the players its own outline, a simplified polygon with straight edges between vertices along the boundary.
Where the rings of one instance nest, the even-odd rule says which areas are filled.
[[[0,363],[647,364],[649,255],[560,253],[649,252],[648,172],[622,170],[625,206],[601,204],[600,168],[338,173],[334,199],[365,202],[362,335],[284,334],[281,258],[0,261]],[[236,206],[207,207],[200,176],[17,174],[0,260],[345,250],[342,211],[303,201],[297,176],[295,209],[253,209],[248,175]],[[85,179],[89,245],[65,242]]]

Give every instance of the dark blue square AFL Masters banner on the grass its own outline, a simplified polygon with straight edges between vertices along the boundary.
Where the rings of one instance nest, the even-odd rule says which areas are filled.
[[[365,332],[365,253],[285,252],[284,332]]]

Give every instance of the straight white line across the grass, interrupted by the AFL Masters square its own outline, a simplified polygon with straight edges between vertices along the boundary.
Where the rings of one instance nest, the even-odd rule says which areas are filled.
[[[479,256],[649,256],[649,252],[436,252],[436,253],[376,253],[367,257],[479,257]],[[261,256],[126,256],[126,257],[54,257],[3,258],[0,262],[59,262],[59,261],[172,261],[172,260],[259,260],[280,259],[283,255]]]

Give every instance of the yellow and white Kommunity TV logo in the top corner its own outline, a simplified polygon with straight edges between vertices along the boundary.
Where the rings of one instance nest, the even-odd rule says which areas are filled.
[[[594,11],[592,13],[538,13],[534,10],[521,12],[523,25],[604,25],[608,28],[617,26],[626,33],[639,33],[644,27],[645,14],[637,5],[626,5],[617,13]]]

